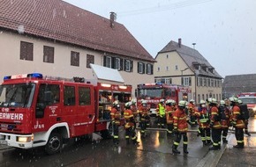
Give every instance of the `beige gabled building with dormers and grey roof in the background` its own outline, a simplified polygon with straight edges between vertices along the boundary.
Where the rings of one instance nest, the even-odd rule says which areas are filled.
[[[154,82],[181,84],[192,88],[192,98],[222,99],[222,76],[194,48],[170,41],[155,57]]]

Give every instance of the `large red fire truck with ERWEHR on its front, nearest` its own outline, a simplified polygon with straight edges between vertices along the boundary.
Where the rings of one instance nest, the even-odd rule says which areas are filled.
[[[107,137],[112,102],[125,103],[131,95],[131,85],[91,84],[79,77],[5,76],[0,85],[0,144],[44,146],[55,154],[72,137]]]

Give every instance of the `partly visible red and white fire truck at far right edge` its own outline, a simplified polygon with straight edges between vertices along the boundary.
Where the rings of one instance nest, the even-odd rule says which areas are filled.
[[[250,116],[253,117],[256,113],[256,92],[242,92],[238,94],[238,98],[247,105]]]

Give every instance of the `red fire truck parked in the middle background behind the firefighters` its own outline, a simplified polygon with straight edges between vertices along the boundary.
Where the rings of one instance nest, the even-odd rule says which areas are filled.
[[[177,84],[138,84],[137,104],[139,105],[142,99],[147,100],[151,116],[156,115],[156,106],[162,98],[165,100],[173,99],[177,103],[179,100],[189,101],[192,98],[192,90]]]

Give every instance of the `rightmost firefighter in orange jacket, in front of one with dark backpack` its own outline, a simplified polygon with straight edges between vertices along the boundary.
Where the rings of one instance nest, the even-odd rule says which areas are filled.
[[[231,106],[232,106],[232,124],[235,127],[235,135],[237,139],[237,145],[233,146],[237,149],[243,149],[245,146],[244,142],[244,128],[245,128],[245,120],[242,116],[241,110],[238,106],[237,98],[230,98]]]

